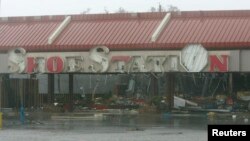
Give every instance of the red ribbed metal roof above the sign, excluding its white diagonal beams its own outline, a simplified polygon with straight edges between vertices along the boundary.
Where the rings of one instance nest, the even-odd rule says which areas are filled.
[[[0,51],[23,47],[38,51],[85,51],[98,45],[110,50],[178,50],[199,43],[207,49],[250,47],[250,11],[172,12],[155,42],[166,13],[72,15],[52,44],[49,36],[65,16],[0,18]]]

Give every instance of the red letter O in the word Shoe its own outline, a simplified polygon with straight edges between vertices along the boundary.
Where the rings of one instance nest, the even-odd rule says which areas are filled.
[[[63,71],[63,63],[62,58],[58,56],[50,57],[47,61],[47,69],[52,73],[60,73]]]

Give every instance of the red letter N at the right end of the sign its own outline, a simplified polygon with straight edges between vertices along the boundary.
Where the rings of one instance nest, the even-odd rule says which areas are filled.
[[[216,55],[209,56],[210,58],[210,72],[214,72],[217,69],[219,72],[228,71],[228,55],[221,55],[219,59]]]

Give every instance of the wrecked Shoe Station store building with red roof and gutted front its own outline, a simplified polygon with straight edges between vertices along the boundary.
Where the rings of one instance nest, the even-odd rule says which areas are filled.
[[[249,110],[250,11],[3,17],[0,105]]]

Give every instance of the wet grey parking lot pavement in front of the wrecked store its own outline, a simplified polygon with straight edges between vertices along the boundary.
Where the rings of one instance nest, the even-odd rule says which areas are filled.
[[[246,115],[233,119],[207,114],[120,115],[90,119],[6,119],[0,141],[205,141],[207,124],[249,124]]]

